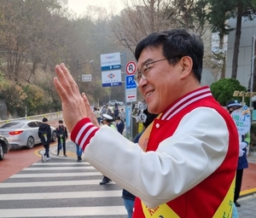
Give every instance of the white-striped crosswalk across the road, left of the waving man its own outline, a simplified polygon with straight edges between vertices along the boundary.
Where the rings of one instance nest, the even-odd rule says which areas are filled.
[[[86,162],[35,163],[0,183],[0,217],[125,218],[122,189]]]

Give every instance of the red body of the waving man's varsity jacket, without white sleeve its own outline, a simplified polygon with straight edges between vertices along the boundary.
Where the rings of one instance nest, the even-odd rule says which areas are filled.
[[[206,87],[201,89],[206,89]],[[181,218],[212,217],[218,210],[219,205],[223,202],[236,175],[236,164],[238,158],[238,135],[236,125],[230,117],[230,114],[226,112],[224,108],[219,106],[218,102],[213,99],[212,95],[207,95],[200,100],[195,100],[189,105],[186,105],[182,110],[178,110],[178,112],[176,111],[177,113],[175,114],[175,116],[173,116],[169,120],[161,119],[165,113],[163,113],[159,119],[155,119],[148,139],[147,152],[155,151],[160,144],[160,141],[164,141],[166,138],[173,135],[173,133],[177,129],[177,125],[180,120],[187,113],[200,106],[211,107],[224,118],[230,132],[229,147],[226,157],[224,158],[224,162],[218,167],[218,169],[216,169],[212,173],[212,175],[209,175],[207,179],[201,181],[200,184],[193,187],[188,192],[185,192],[179,197],[166,203],[177,214],[177,217]],[[173,107],[173,105],[170,106],[168,110],[171,107]],[[182,106],[179,106],[179,108],[181,107]],[[161,128],[155,127],[157,123],[160,123]],[[209,125],[211,125],[211,123],[209,123]],[[216,137],[218,137],[218,135],[216,135]],[[232,202],[230,202],[230,204],[232,204]],[[232,207],[230,208],[232,209]],[[155,210],[157,210],[157,208],[155,208]],[[154,209],[152,209],[151,213],[154,214]],[[223,215],[223,217],[230,217],[228,216],[228,214],[226,214],[226,212],[224,212]],[[161,216],[162,215],[160,215],[159,217]],[[135,211],[133,214],[133,218],[143,217],[150,216],[145,216],[143,214],[141,200],[137,198],[135,202]],[[166,216],[162,216],[162,218],[163,217],[167,218]]]

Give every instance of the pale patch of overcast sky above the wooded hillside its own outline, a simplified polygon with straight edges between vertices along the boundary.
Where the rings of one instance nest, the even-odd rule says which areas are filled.
[[[110,7],[115,7],[117,14],[124,8],[121,0],[68,0],[69,8],[79,15],[83,14],[89,5],[101,6],[108,9],[108,11]]]

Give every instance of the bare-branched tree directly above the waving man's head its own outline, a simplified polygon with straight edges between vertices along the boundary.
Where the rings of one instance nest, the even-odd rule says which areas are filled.
[[[183,27],[199,35],[209,29],[207,1],[131,0],[111,24],[116,43],[132,52],[136,44],[151,32]]]

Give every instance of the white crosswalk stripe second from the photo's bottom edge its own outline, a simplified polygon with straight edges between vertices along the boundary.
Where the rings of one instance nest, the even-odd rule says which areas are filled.
[[[5,200],[35,200],[35,199],[67,199],[67,198],[108,198],[121,197],[122,191],[95,191],[95,192],[44,192],[0,194],[0,201]]]

